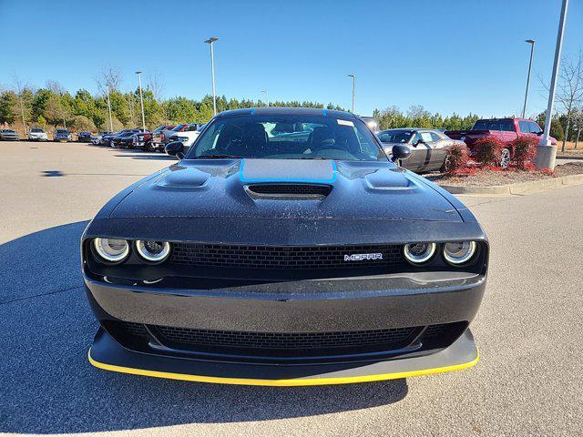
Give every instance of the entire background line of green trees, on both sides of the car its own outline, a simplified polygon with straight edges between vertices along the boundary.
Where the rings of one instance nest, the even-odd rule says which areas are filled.
[[[109,89],[111,120],[113,130],[124,127],[141,126],[141,107],[138,88],[122,92],[117,88]],[[213,115],[212,97],[205,96],[200,100],[186,97],[171,97],[162,99],[156,97],[155,90],[150,87],[143,89],[144,116],[148,128],[159,125],[178,123],[206,123]],[[264,107],[265,102],[251,99],[228,99],[225,96],[217,98],[217,110],[237,109],[242,107]],[[328,109],[343,109],[329,103],[324,106],[311,101],[275,101],[273,107],[326,107]],[[412,106],[406,112],[398,107],[374,109],[373,117],[381,129],[394,127],[425,127],[442,128],[446,130],[465,130],[474,126],[479,118],[476,114],[465,117],[453,114],[442,116],[431,113],[422,106]],[[545,114],[539,114],[537,122],[544,126]],[[569,140],[578,139],[583,117],[557,115],[551,124],[551,135],[562,140],[564,126],[570,124]],[[86,89],[79,89],[74,95],[66,91],[56,82],[49,81],[45,87],[34,89],[30,86],[15,86],[14,89],[0,92],[0,124],[15,127],[25,132],[30,127],[46,129],[66,127],[74,131],[110,130],[107,92],[92,95]],[[575,126],[573,126],[575,125]],[[576,128],[573,128],[576,127]]]

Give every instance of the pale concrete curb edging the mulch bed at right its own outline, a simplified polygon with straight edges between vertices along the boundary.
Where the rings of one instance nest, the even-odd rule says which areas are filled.
[[[494,185],[492,187],[456,187],[451,185],[440,185],[452,194],[525,194],[535,189],[549,189],[559,187],[572,187],[583,184],[583,174],[569,175],[561,178],[547,178],[539,180],[529,180],[509,185]]]

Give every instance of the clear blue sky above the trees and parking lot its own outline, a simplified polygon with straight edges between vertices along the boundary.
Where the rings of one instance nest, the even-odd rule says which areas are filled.
[[[163,78],[164,96],[217,93],[313,100],[356,110],[423,105],[430,111],[505,116],[522,107],[528,46],[537,41],[528,113],[546,107],[560,0],[504,1],[53,1],[0,0],[0,86],[56,80],[96,92],[103,66],[123,89],[136,69]],[[583,2],[571,0],[564,54],[583,45]],[[147,77],[145,77],[147,78]]]

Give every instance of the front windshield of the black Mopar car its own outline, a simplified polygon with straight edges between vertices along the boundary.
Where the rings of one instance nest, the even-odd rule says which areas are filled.
[[[386,159],[362,121],[302,114],[218,117],[186,158],[204,157]]]

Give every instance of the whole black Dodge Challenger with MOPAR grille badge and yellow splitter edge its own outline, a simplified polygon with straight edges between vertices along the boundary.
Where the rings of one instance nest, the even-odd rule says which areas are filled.
[[[220,113],[107,202],[82,269],[98,368],[316,385],[465,369],[488,243],[352,114]],[[185,155],[186,153],[186,155]]]

